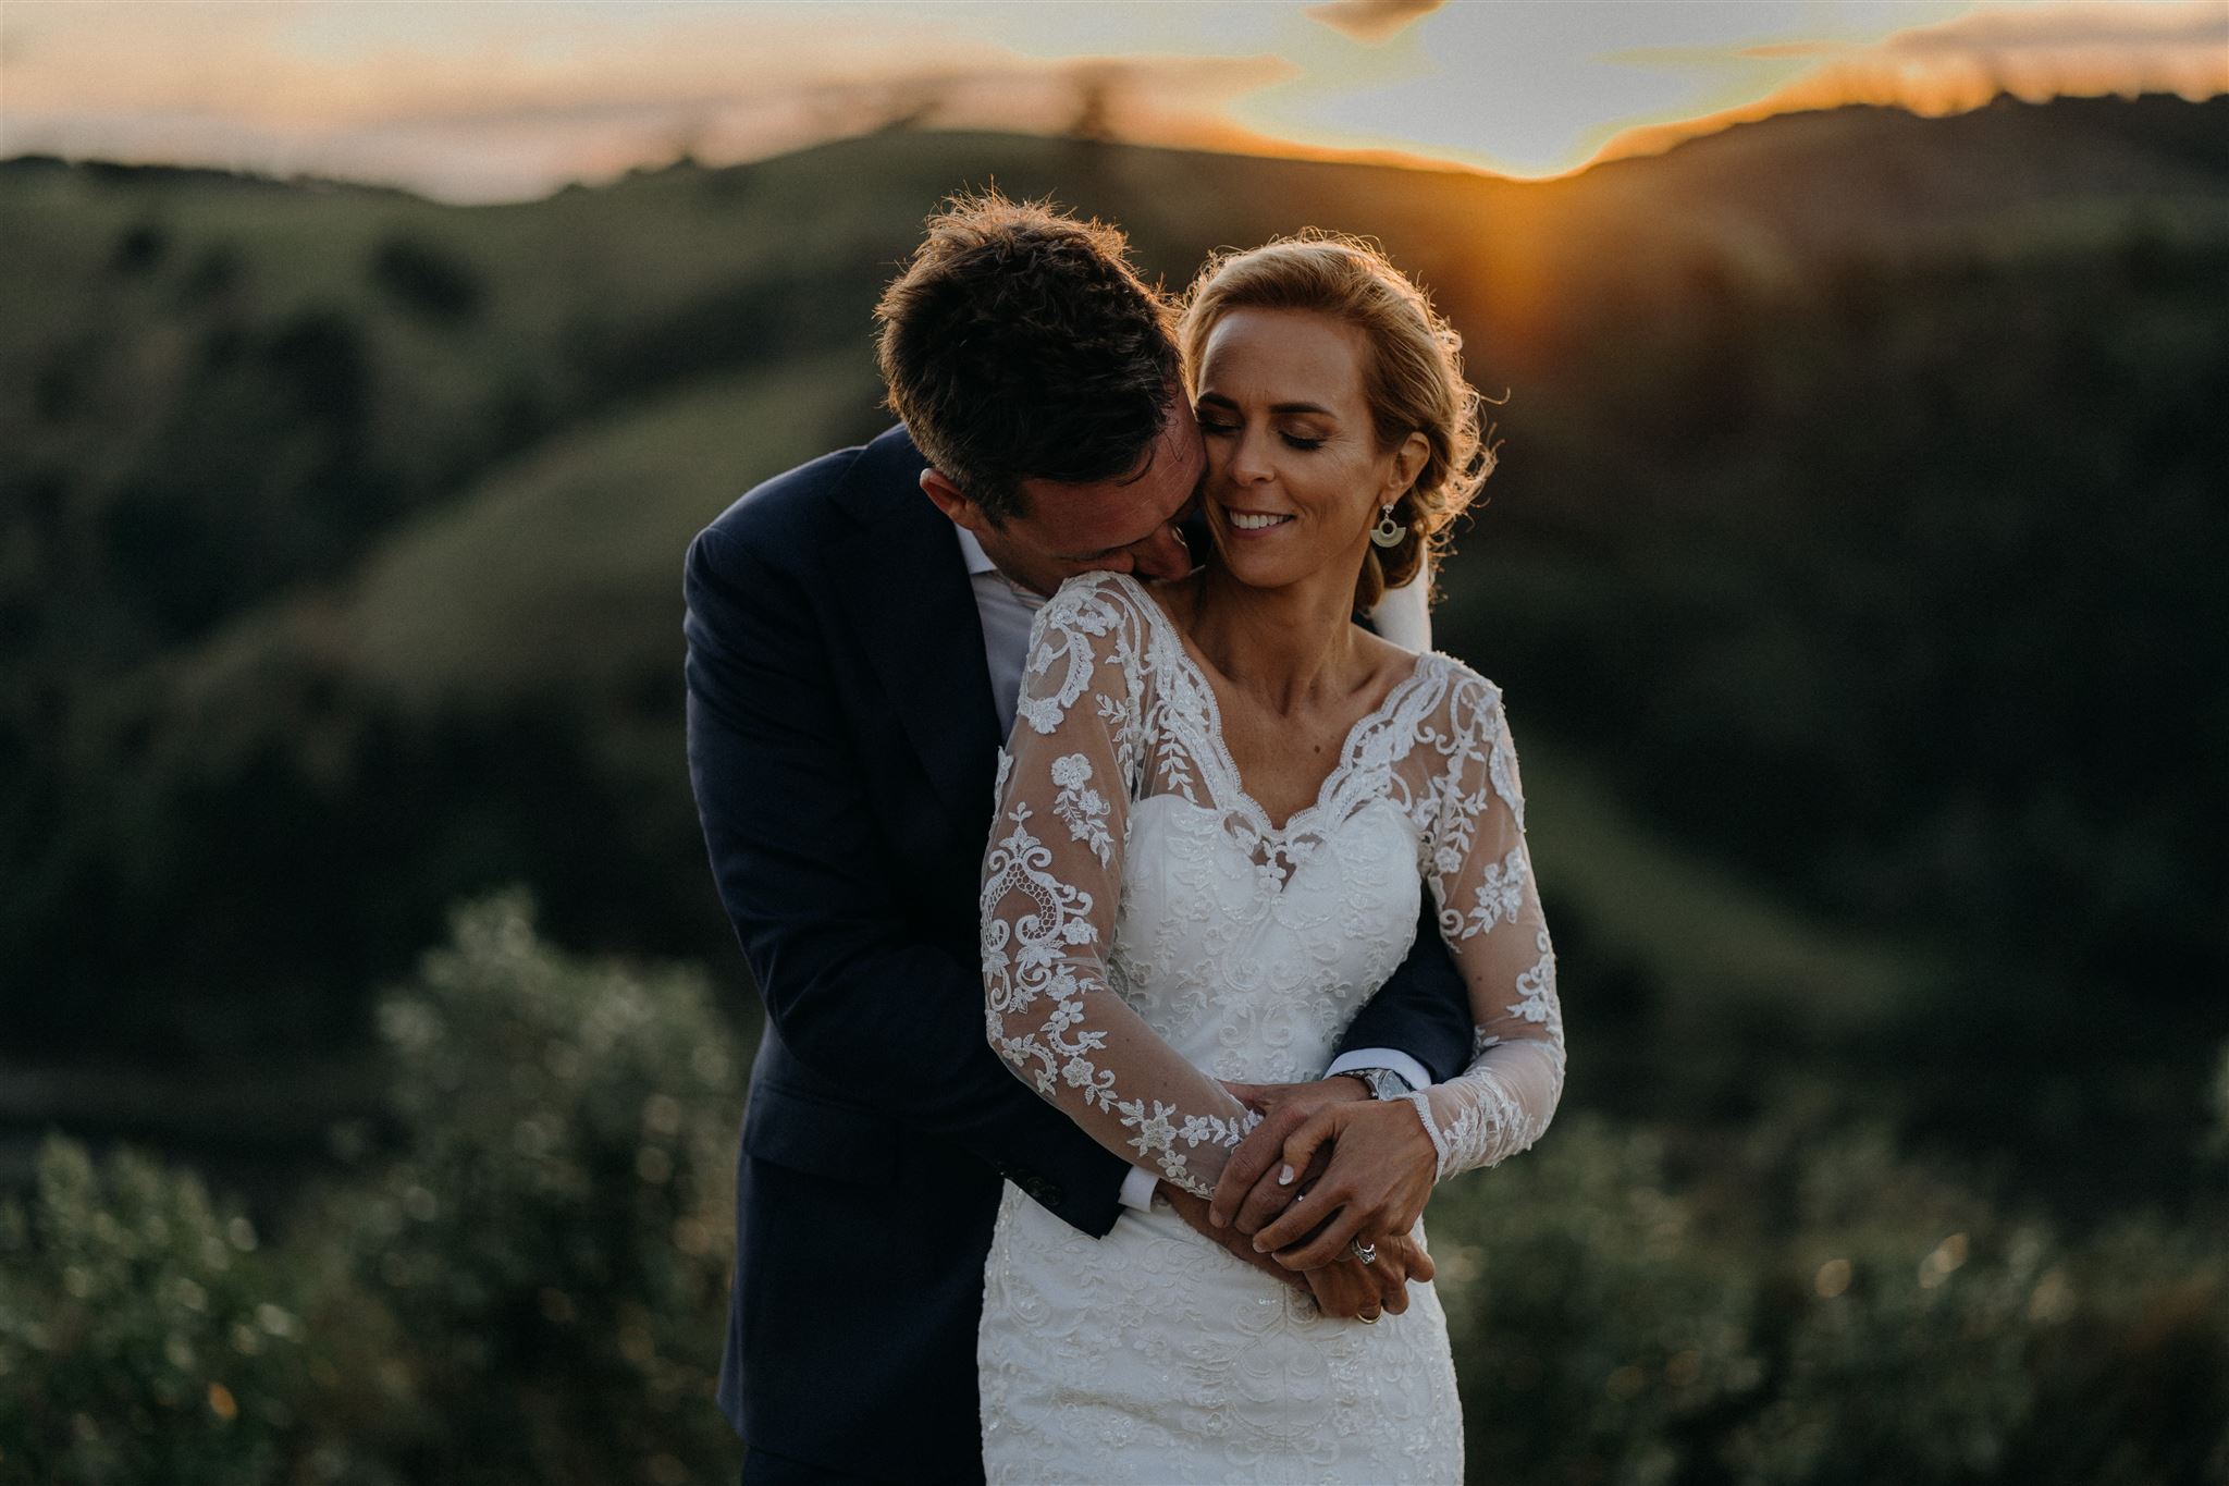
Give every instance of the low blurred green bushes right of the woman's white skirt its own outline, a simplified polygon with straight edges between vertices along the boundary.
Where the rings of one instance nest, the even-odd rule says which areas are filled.
[[[1881,1130],[1563,1118],[1431,1208],[1471,1470],[1549,1484],[2220,1479],[2229,1257],[2015,1219]]]

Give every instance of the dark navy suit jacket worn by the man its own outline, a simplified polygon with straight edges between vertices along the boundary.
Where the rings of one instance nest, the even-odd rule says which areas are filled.
[[[974,1335],[1001,1179],[1099,1236],[1128,1165],[983,1040],[999,722],[974,588],[894,428],[689,546],[689,778],[767,1007],[736,1165],[720,1406],[827,1470],[981,1479]],[[1433,1078],[1471,1014],[1429,925],[1351,1047]]]

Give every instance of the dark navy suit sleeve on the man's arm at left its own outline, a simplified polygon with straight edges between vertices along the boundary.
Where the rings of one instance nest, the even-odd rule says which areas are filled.
[[[972,1150],[1103,1234],[1126,1163],[999,1065],[981,967],[909,922],[909,864],[869,809],[798,577],[709,528],[689,548],[684,597],[689,780],[782,1043],[858,1103]]]

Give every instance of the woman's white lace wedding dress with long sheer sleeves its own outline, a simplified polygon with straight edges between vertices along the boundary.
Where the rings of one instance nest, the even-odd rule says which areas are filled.
[[[1221,1078],[1322,1074],[1431,884],[1478,1023],[1415,1094],[1440,1174],[1531,1145],[1563,1089],[1556,960],[1500,693],[1424,655],[1282,827],[1206,675],[1130,577],[1030,637],[983,867],[992,1045],[1130,1161],[1210,1194],[1253,1116]],[[1008,1185],[976,1341],[992,1482],[1460,1482],[1429,1285],[1378,1326],[1313,1306],[1166,1203],[1088,1239]]]

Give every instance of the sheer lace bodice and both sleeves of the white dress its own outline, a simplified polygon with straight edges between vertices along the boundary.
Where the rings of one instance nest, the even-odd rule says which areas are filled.
[[[1155,860],[1117,851],[1155,815],[1168,822]],[[1188,862],[1195,896],[1126,902],[1141,871],[1179,867],[1170,833],[1206,842]],[[1500,691],[1418,657],[1349,733],[1317,800],[1273,824],[1242,786],[1213,688],[1135,579],[1072,579],[1039,613],[983,864],[985,1032],[1101,1145],[1208,1196],[1255,1118],[1219,1081],[1322,1072],[1266,1074],[1259,1054],[1291,1045],[1295,1018],[1328,1018],[1337,1040],[1406,956],[1418,880],[1478,1027],[1471,1065],[1411,1096],[1449,1176],[1538,1141],[1565,1076]],[[1328,900],[1293,891],[1324,882]],[[1311,911],[1328,913],[1313,936],[1297,922]],[[1300,1040],[1317,1052],[1317,1036]]]

